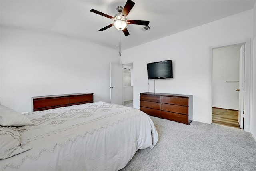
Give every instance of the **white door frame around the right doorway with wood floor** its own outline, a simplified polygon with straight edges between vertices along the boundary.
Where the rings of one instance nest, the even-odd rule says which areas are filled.
[[[210,48],[210,76],[209,76],[209,113],[208,123],[212,123],[212,60],[213,60],[213,49],[223,48],[226,46],[233,46],[238,44],[245,45],[245,59],[244,59],[244,131],[250,132],[251,130],[251,112],[250,112],[250,48],[251,40],[246,39],[244,41],[238,41],[220,46],[214,46]]]

